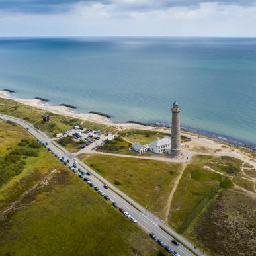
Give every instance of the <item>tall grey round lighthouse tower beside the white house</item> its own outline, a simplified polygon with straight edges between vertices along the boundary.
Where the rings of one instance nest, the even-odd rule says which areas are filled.
[[[179,120],[181,110],[177,101],[173,103],[171,112],[173,113],[171,120],[171,157],[181,158],[181,129]]]

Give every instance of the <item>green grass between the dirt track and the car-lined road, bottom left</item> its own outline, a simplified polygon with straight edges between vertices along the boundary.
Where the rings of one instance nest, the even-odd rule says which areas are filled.
[[[1,255],[153,255],[159,250],[69,171],[56,173],[23,203],[29,206],[1,220]]]

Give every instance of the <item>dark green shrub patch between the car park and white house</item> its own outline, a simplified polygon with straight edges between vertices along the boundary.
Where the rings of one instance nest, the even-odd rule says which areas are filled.
[[[109,153],[122,153],[122,151],[127,151],[130,146],[131,144],[122,140],[121,137],[116,137],[114,140],[106,140],[105,144],[97,150]]]

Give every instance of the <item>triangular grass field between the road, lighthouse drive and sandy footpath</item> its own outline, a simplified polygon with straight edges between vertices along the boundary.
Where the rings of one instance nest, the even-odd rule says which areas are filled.
[[[79,155],[95,171],[129,194],[134,200],[149,206],[151,212],[163,216],[173,181],[181,165],[148,159]]]

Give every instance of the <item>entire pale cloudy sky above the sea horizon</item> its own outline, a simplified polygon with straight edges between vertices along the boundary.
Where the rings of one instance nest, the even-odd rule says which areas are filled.
[[[0,0],[1,37],[256,37],[256,0]]]

